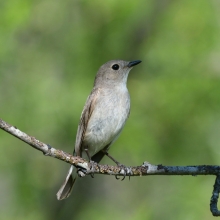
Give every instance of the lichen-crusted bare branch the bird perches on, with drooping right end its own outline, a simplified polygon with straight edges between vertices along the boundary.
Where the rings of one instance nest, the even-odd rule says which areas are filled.
[[[93,161],[86,161],[81,157],[75,157],[62,150],[55,149],[48,144],[37,140],[33,136],[20,131],[17,127],[12,126],[0,119],[0,128],[9,134],[24,141],[35,149],[41,151],[45,156],[51,156],[59,160],[65,161],[83,171],[85,175],[106,174],[117,176],[147,176],[147,175],[216,175],[214,190],[210,202],[210,210],[213,216],[220,216],[217,208],[218,196],[220,192],[220,166],[199,165],[199,166],[163,166],[152,165],[144,162],[140,166],[111,166],[100,165]],[[82,173],[82,172],[80,172]],[[83,176],[83,175],[81,175]]]

